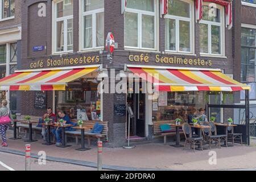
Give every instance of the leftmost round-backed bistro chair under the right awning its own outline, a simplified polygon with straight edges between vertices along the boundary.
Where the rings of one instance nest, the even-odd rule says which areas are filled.
[[[191,126],[189,126],[188,123],[183,123],[182,130],[185,135],[185,144],[184,144],[183,150],[184,150],[187,142],[191,143],[190,147],[192,147],[192,145],[193,145],[194,152],[195,152],[196,144],[201,144],[201,149],[203,150],[203,137],[192,137]]]

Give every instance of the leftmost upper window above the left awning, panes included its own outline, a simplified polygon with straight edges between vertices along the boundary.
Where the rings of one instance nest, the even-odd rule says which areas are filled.
[[[56,40],[54,52],[73,50],[73,0],[54,3],[54,32]]]

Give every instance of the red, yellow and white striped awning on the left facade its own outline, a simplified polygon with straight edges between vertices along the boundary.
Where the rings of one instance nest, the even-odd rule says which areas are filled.
[[[1,90],[65,90],[68,82],[76,80],[99,66],[79,68],[59,68],[43,71],[16,71],[13,75],[0,79]]]

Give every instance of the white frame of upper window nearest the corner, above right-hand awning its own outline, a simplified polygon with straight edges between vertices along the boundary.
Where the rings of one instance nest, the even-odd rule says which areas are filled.
[[[125,12],[128,13],[136,13],[138,14],[138,47],[131,47],[131,46],[125,46],[125,50],[146,50],[146,51],[157,51],[158,50],[158,30],[159,30],[159,20],[158,20],[158,14],[159,14],[159,7],[158,7],[158,0],[154,0],[154,12],[151,11],[144,11],[144,10],[138,10],[138,9],[131,9],[131,8],[126,8]],[[154,44],[154,48],[144,48],[142,47],[142,15],[150,15],[150,16],[154,16],[155,21],[154,21],[154,37],[155,37],[155,44]],[[124,22],[125,22],[125,15],[123,17]],[[123,31],[123,35],[125,34],[125,30]],[[125,40],[124,40],[124,45],[125,45]]]

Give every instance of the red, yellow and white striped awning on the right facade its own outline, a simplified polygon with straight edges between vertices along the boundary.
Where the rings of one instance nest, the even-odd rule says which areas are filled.
[[[143,80],[154,83],[159,91],[239,91],[250,89],[219,69],[133,67],[129,70]]]

